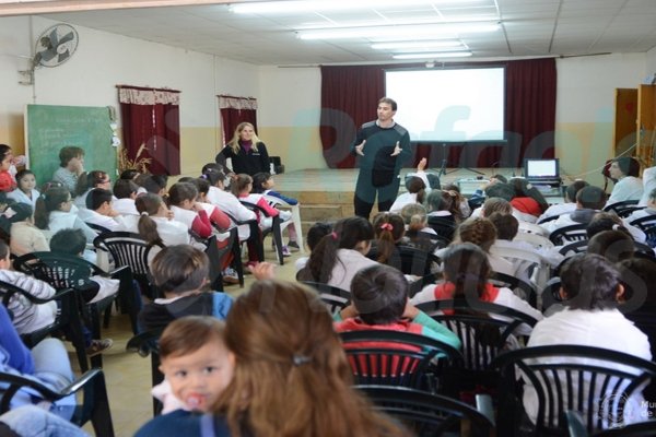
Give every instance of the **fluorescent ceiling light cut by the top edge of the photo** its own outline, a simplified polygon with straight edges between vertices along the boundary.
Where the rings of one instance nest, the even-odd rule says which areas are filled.
[[[293,0],[293,1],[267,1],[253,3],[233,4],[230,10],[235,13],[288,13],[288,12],[325,12],[325,11],[349,11],[362,9],[382,9],[388,7],[407,8],[410,5],[433,5],[440,3],[480,2],[480,0],[405,0],[402,4],[398,0]]]

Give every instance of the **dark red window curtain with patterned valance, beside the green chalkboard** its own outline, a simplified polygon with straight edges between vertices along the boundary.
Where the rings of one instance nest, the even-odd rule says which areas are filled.
[[[128,158],[150,160],[148,169],[154,175],[179,175],[179,91],[125,85],[118,88]]]

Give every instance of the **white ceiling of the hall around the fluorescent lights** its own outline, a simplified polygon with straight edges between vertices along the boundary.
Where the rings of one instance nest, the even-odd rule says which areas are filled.
[[[354,0],[332,0],[351,1]],[[296,66],[393,62],[371,40],[301,40],[308,26],[356,22],[461,21],[464,15],[502,23],[488,34],[461,34],[472,60],[644,52],[656,47],[656,0],[454,0],[349,12],[236,14],[227,4],[102,10],[43,16],[254,64]],[[440,59],[437,59],[440,61]]]

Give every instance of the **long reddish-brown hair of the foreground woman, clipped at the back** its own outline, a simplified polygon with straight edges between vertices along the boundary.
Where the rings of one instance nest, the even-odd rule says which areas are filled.
[[[235,371],[212,410],[232,436],[405,435],[352,388],[332,319],[305,286],[256,282],[231,309],[225,341]]]

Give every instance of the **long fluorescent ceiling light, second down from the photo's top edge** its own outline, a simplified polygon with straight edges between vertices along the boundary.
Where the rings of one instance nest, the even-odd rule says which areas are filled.
[[[480,32],[495,32],[499,23],[448,23],[422,25],[388,25],[368,27],[331,27],[315,31],[297,31],[300,39],[348,39],[348,38],[376,38],[399,36],[408,39],[409,36],[440,36],[444,34],[459,35]]]

